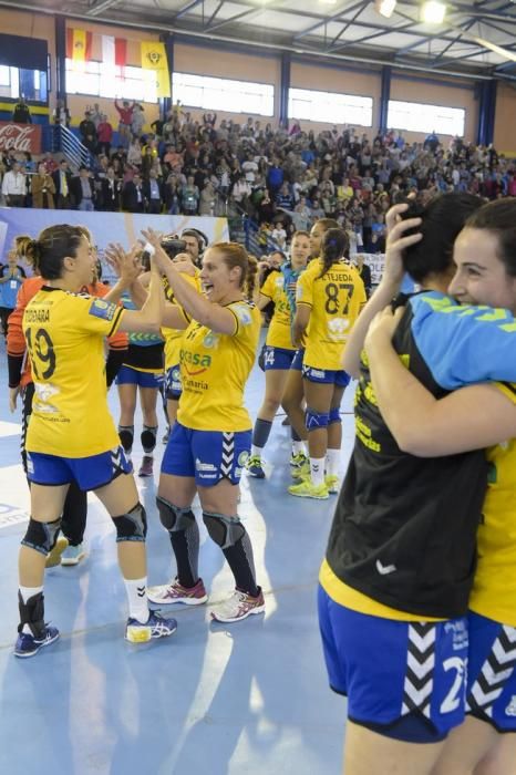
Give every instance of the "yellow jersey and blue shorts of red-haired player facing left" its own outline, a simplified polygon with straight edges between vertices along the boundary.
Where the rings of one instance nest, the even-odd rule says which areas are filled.
[[[185,331],[179,353],[183,393],[162,464],[163,473],[195,476],[205,487],[223,477],[237,484],[250,448],[244,389],[261,319],[248,301],[235,301],[226,309],[235,318],[233,334],[216,333],[195,321]]]

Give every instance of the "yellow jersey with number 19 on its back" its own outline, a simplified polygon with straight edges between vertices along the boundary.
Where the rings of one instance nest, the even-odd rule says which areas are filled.
[[[43,287],[23,313],[34,381],[28,452],[89,457],[120,444],[107,409],[104,337],[124,309],[103,299]]]

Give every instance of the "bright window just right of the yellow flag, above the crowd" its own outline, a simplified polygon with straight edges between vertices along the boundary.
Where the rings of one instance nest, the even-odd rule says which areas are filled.
[[[261,116],[275,113],[275,87],[269,83],[174,73],[172,90],[174,101],[188,107],[217,111],[224,106],[228,113]]]

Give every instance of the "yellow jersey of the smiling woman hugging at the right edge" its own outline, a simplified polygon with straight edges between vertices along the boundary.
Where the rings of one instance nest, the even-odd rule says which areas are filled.
[[[497,388],[516,404],[516,386],[497,383]],[[487,494],[477,533],[478,564],[469,608],[516,627],[516,440],[491,447],[487,461]]]

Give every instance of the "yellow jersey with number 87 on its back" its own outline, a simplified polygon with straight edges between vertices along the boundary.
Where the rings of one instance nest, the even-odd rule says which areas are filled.
[[[298,280],[296,301],[311,308],[305,365],[342,369],[342,353],[360,310],[367,301],[362,278],[354,267],[338,261],[320,277],[322,262],[312,261]]]

